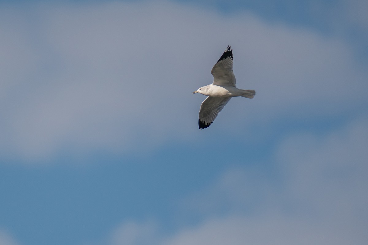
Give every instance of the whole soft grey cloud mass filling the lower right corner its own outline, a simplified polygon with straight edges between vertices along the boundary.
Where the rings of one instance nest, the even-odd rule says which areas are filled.
[[[365,244],[367,145],[367,118],[324,136],[288,137],[269,166],[279,180],[230,170],[185,202],[205,219],[163,244]]]

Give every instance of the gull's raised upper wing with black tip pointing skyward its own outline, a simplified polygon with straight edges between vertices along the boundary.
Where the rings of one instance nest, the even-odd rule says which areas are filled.
[[[213,66],[211,73],[213,84],[219,86],[234,86],[235,76],[233,72],[233,50],[227,46],[219,61]]]

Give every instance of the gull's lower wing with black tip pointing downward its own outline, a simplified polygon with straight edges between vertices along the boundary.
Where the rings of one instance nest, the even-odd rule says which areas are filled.
[[[231,97],[207,97],[199,109],[199,129],[209,127],[230,99]]]

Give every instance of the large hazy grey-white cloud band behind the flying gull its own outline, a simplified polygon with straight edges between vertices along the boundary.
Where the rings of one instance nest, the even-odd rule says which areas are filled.
[[[190,139],[204,99],[191,92],[211,82],[229,44],[238,87],[257,91],[253,100],[231,100],[216,119],[234,118],[230,134],[282,114],[336,115],[366,100],[367,72],[346,44],[248,13],[225,17],[167,2],[1,11],[11,11],[0,30],[7,37],[0,59],[8,64],[0,97],[4,158],[146,152]]]

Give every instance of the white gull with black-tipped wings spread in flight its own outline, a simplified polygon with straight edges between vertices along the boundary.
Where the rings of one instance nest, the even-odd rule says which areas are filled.
[[[213,66],[211,73],[213,83],[193,92],[193,94],[200,93],[208,96],[199,109],[199,129],[209,127],[231,97],[253,98],[255,95],[255,90],[238,89],[235,86],[233,50],[230,46],[227,46],[220,59]]]

